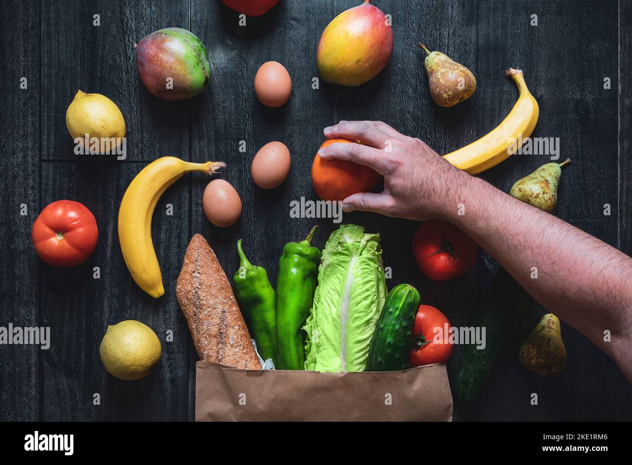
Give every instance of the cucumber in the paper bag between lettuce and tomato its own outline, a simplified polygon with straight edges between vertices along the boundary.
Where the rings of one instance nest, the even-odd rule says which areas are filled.
[[[410,368],[410,341],[419,301],[417,289],[410,284],[399,284],[386,296],[368,347],[367,371]]]

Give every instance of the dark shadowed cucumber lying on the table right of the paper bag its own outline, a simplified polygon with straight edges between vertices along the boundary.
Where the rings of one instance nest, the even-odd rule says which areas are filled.
[[[530,297],[497,263],[490,265],[489,293],[475,307],[470,327],[485,327],[485,348],[463,348],[454,393],[460,401],[474,402],[481,396],[501,349],[506,346]]]

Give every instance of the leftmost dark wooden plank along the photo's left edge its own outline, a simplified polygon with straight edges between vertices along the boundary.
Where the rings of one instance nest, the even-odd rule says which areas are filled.
[[[40,210],[40,11],[37,3],[20,1],[3,9],[11,14],[0,19],[0,63],[6,69],[0,80],[0,326],[38,327],[39,259],[30,231]],[[27,88],[20,88],[21,78]],[[37,420],[40,352],[37,346],[0,346],[0,420]]]

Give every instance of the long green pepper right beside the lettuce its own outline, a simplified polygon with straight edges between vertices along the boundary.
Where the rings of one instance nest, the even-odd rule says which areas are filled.
[[[320,250],[310,246],[318,226],[304,241],[283,248],[277,277],[277,361],[280,370],[305,370],[305,331],[318,284]],[[276,365],[275,365],[276,366]]]

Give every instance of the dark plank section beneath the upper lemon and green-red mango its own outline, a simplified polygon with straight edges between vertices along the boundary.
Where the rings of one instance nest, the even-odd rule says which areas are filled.
[[[106,95],[121,109],[128,160],[188,157],[191,102],[174,104],[150,94],[138,78],[134,52],[134,44],[155,30],[188,28],[188,3],[66,0],[42,2],[42,8],[44,159],[114,156],[74,154],[65,118],[78,89]]]

